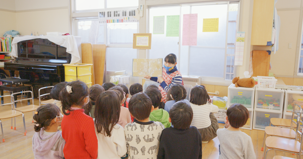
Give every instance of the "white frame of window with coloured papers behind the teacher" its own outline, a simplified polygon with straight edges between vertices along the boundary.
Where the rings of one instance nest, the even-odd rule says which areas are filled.
[[[239,26],[240,26],[240,8],[241,8],[241,2],[240,1],[224,1],[224,2],[201,2],[201,3],[186,3],[186,4],[171,4],[171,5],[157,5],[157,6],[147,6],[147,14],[146,14],[146,32],[149,33],[150,30],[149,30],[149,22],[150,22],[150,14],[149,14],[149,11],[150,9],[154,9],[154,8],[168,8],[168,7],[177,7],[179,6],[180,7],[180,15],[182,15],[182,8],[181,7],[184,7],[184,6],[190,6],[190,13],[191,13],[191,6],[201,6],[201,5],[217,5],[217,4],[227,4],[227,11],[229,11],[229,5],[230,4],[238,4],[238,13],[237,13],[237,19],[236,19],[236,32],[238,31],[239,29]],[[181,21],[181,16],[180,16],[180,21]],[[228,45],[230,45],[230,43],[227,43],[227,39],[228,39],[228,23],[229,23],[229,12],[227,12],[227,21],[226,21],[226,40],[225,40],[225,60],[224,60],[224,76],[223,77],[208,77],[208,76],[202,76],[200,75],[201,79],[203,81],[212,81],[212,82],[217,82],[217,83],[231,83],[232,79],[231,80],[226,80],[226,67],[227,67],[227,56],[235,56],[235,53],[234,54],[227,54],[227,49],[235,49],[235,47],[228,47]],[[182,23],[179,23],[179,35],[181,34],[181,25]],[[178,52],[178,67],[180,68],[180,53],[181,53],[181,35],[179,36],[179,52]],[[234,43],[235,45],[235,43]],[[209,48],[208,46],[189,46],[189,50],[191,47],[203,47],[203,48]],[[221,47],[218,47],[218,48],[221,48]],[[149,50],[146,50],[146,57],[147,59],[149,59]],[[188,63],[189,63],[189,56],[190,56],[190,53],[188,52]],[[233,73],[229,73],[229,74],[233,74],[234,77],[237,75],[237,66],[236,65],[233,65]],[[186,76],[191,76],[189,74],[189,65],[188,65],[188,73],[187,74],[183,74],[183,75],[186,75]]]

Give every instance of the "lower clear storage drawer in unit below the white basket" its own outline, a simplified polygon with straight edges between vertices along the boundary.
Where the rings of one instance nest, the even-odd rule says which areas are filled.
[[[282,113],[255,110],[253,129],[265,130],[266,126],[270,126],[271,118],[282,118]]]

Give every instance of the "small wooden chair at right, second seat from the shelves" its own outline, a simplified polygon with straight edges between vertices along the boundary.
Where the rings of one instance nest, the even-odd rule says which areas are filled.
[[[295,107],[299,108],[298,112],[295,111]],[[294,119],[294,115],[297,115],[297,117],[299,117],[298,119],[300,119],[300,116],[302,115],[302,108],[297,104],[295,104],[295,106],[293,107],[291,119]],[[299,124],[299,120],[297,120],[296,122],[294,120],[291,120],[291,122],[295,123],[295,125]],[[264,146],[266,136],[277,136],[277,137],[295,139],[295,137],[296,137],[295,134],[296,134],[296,131],[298,130],[298,127],[296,127],[296,130],[294,131],[292,129],[292,123],[290,124],[290,128],[267,126],[265,128],[265,133],[264,133],[261,150],[263,151],[263,146]]]

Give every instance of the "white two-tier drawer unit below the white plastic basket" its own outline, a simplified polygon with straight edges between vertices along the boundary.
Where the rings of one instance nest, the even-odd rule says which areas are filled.
[[[253,129],[265,130],[271,118],[282,118],[284,90],[256,87]]]

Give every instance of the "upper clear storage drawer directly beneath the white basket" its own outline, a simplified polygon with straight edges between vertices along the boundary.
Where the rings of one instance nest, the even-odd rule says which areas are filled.
[[[275,110],[282,112],[284,90],[256,88],[255,109]]]

